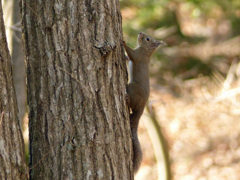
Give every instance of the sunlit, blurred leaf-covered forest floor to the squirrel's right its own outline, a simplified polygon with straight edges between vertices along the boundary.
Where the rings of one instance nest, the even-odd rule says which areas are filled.
[[[239,180],[238,73],[235,68],[226,78],[215,74],[211,78],[173,80],[178,95],[171,87],[152,80],[149,102],[168,143],[173,180]],[[143,122],[139,136],[144,155],[136,179],[157,180],[153,147]]]

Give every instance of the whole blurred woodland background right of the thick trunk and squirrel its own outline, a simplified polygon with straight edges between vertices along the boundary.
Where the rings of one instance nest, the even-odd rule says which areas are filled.
[[[174,180],[239,180],[240,1],[120,4],[130,47],[141,31],[168,44],[151,59],[151,95],[139,127],[144,156],[136,179],[170,179],[169,166]],[[161,147],[168,148],[169,158]]]

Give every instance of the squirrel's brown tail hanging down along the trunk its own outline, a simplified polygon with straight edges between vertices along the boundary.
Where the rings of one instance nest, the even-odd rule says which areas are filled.
[[[133,170],[135,174],[137,173],[142,161],[142,150],[138,140],[137,129],[138,129],[139,119],[143,113],[143,110],[144,109],[140,111],[133,111],[133,113],[130,115],[132,143],[133,143]]]

